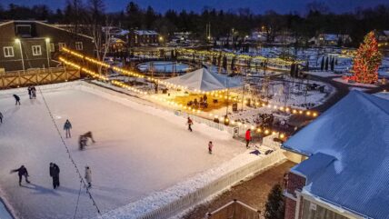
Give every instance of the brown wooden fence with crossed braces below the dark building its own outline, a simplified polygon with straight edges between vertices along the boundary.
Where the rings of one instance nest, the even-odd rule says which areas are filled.
[[[52,83],[72,81],[80,78],[80,72],[76,69],[55,67],[38,68],[26,71],[0,73],[0,89],[28,85],[46,85]]]

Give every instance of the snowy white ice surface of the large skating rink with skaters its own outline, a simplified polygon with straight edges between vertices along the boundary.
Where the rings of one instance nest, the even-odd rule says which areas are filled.
[[[0,124],[0,195],[19,218],[73,218],[80,189],[75,167],[42,95],[37,92],[37,99],[30,100],[25,90],[15,89],[21,106],[15,106],[9,90],[0,91],[0,112],[5,117]],[[65,119],[72,123],[72,138],[65,138],[65,143],[83,175],[85,165],[91,167],[91,194],[103,213],[163,191],[245,151],[244,144],[202,124],[194,124],[190,133],[185,118],[173,113],[145,110],[145,105],[122,105],[77,87],[45,89],[43,93],[64,138]],[[93,132],[96,143],[79,151],[78,136],[87,131]],[[212,155],[207,152],[208,141],[214,142]],[[61,186],[56,190],[49,175],[50,162],[61,169]],[[23,181],[22,187],[17,174],[10,174],[21,164],[32,182]],[[96,215],[82,188],[75,218]]]

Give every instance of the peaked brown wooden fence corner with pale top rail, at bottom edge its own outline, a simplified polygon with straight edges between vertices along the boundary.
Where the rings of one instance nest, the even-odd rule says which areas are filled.
[[[234,199],[212,213],[207,213],[204,219],[260,219],[261,211]]]

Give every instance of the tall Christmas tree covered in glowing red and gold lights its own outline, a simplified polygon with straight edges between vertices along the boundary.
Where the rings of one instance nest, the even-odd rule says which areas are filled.
[[[354,57],[354,75],[350,79],[364,84],[376,82],[381,61],[382,55],[378,51],[374,32],[370,32],[364,36],[364,43],[359,46]]]

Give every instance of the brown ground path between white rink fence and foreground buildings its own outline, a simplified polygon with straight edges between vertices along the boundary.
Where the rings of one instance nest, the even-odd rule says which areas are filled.
[[[258,174],[249,181],[235,185],[230,190],[224,192],[224,194],[220,194],[214,198],[210,203],[199,205],[183,218],[203,219],[207,212],[213,212],[234,199],[264,212],[264,204],[266,203],[267,195],[270,190],[274,184],[283,183],[284,173],[288,172],[292,166],[294,166],[294,163],[290,161],[274,166],[272,169],[269,169],[262,174]]]

